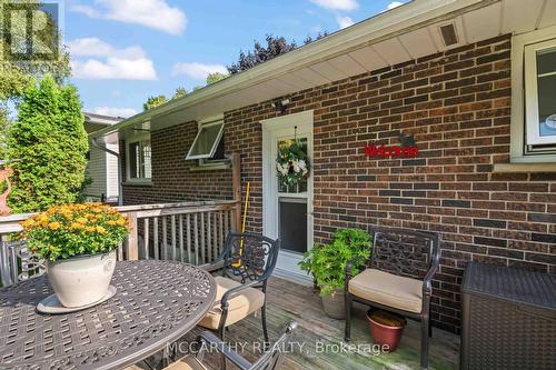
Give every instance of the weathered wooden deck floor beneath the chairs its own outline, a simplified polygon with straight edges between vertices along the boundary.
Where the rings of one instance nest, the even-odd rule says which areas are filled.
[[[321,309],[320,297],[311,287],[272,278],[268,288],[268,323],[270,340],[276,339],[290,320],[299,327],[294,337],[292,352],[287,354],[284,369],[419,369],[419,324],[410,321],[401,344],[395,352],[376,354],[369,351],[370,339],[365,318],[365,307],[354,312],[350,344],[361,344],[359,352],[342,351],[344,320],[328,318]],[[201,329],[196,329],[199,332]],[[195,338],[188,334],[188,340]],[[245,344],[238,351],[249,361],[254,354],[254,341],[262,341],[260,316],[249,317],[229,328],[227,342]],[[299,344],[298,344],[299,343]],[[302,348],[300,347],[302,346]],[[367,347],[367,348],[366,348]],[[430,340],[429,369],[457,369],[459,337],[434,329]],[[257,352],[257,350],[255,350]],[[219,357],[205,357],[214,369],[219,369]],[[228,366],[228,369],[234,369]]]

